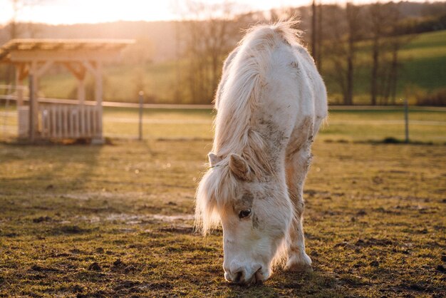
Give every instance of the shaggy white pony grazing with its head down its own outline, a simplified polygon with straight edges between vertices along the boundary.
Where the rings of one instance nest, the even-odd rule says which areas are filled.
[[[311,270],[302,195],[327,97],[295,24],[251,29],[225,61],[217,91],[195,220],[204,234],[221,222],[224,277],[238,284],[263,282],[285,258],[285,269]]]

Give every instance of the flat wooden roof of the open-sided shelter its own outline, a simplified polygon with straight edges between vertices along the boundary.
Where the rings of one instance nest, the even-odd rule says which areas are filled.
[[[0,61],[10,62],[11,52],[115,51],[134,43],[132,39],[11,39],[0,48]]]

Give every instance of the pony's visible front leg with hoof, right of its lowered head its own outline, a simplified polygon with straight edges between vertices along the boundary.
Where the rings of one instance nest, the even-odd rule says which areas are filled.
[[[286,165],[286,182],[289,197],[294,205],[294,219],[289,230],[287,244],[288,260],[285,269],[290,271],[311,272],[311,259],[305,252],[303,228],[304,215],[304,182],[311,163],[311,141],[294,155],[289,157]]]

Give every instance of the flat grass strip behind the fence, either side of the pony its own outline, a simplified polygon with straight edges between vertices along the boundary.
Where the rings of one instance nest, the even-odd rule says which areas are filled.
[[[0,140],[15,135],[15,107],[0,108]],[[145,109],[143,134],[150,139],[212,139],[211,110]],[[411,107],[410,140],[422,143],[446,143],[445,108]],[[110,138],[138,137],[138,110],[105,108],[104,133]],[[332,108],[319,138],[326,141],[379,142],[385,138],[405,138],[402,108],[349,110]]]

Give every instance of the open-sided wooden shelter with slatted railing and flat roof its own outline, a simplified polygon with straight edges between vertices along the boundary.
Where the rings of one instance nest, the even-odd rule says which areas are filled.
[[[0,62],[16,67],[16,86],[28,77],[29,104],[17,89],[19,138],[91,138],[103,141],[103,63],[118,61],[131,40],[13,39],[0,48]],[[55,63],[65,66],[78,82],[78,98],[72,104],[39,103],[38,81]],[[95,79],[94,101],[85,101],[85,74]]]

